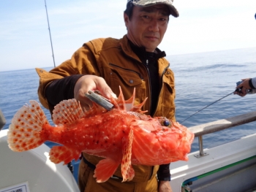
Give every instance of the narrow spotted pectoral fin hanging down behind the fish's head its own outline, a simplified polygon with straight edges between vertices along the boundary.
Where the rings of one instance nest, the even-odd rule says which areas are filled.
[[[133,139],[133,130],[130,129],[127,137],[122,139],[123,143],[123,158],[121,161],[121,174],[123,181],[132,180],[135,176],[135,171],[132,168],[132,139]]]

